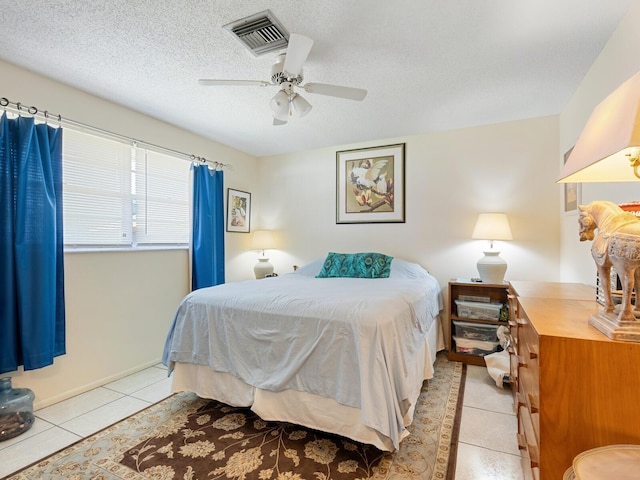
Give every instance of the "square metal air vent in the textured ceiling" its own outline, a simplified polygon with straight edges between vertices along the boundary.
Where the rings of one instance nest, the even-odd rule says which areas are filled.
[[[289,33],[270,10],[231,22],[223,27],[256,57],[287,48]]]

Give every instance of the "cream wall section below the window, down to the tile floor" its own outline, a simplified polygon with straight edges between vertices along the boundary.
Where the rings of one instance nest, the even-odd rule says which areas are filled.
[[[34,391],[36,408],[158,363],[188,292],[187,250],[67,253],[64,262],[67,353],[7,374]]]

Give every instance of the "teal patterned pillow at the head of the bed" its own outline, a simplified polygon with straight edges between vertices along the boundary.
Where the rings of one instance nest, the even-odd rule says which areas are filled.
[[[329,252],[316,278],[388,278],[392,260],[381,253]]]

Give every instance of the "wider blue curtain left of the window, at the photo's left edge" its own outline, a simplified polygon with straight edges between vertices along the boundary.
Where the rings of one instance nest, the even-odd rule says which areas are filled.
[[[62,129],[0,117],[0,373],[65,353]]]

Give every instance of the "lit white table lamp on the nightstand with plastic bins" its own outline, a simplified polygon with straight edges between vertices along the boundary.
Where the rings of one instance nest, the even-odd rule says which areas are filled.
[[[482,283],[503,283],[507,262],[500,257],[500,252],[493,248],[493,242],[513,240],[507,216],[504,213],[481,213],[471,238],[489,240],[489,249],[484,251],[484,257],[478,260],[477,264]]]

